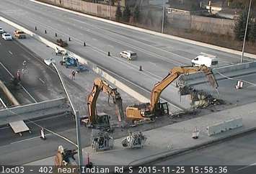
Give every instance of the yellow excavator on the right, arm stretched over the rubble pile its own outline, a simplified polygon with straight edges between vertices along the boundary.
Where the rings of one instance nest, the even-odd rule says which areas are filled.
[[[137,104],[133,106],[128,106],[126,108],[126,118],[129,120],[139,120],[139,119],[151,119],[154,116],[161,116],[164,114],[169,114],[167,102],[160,103],[159,98],[167,86],[175,81],[182,74],[198,73],[202,71],[206,74],[208,81],[213,88],[218,88],[218,83],[210,68],[205,65],[201,66],[184,66],[175,67],[169,71],[169,74],[159,83],[156,83],[151,91],[150,103],[147,104]]]

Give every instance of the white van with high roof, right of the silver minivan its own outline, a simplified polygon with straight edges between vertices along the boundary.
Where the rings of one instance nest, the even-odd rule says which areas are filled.
[[[208,55],[203,52],[201,52],[200,55],[191,60],[191,63],[193,66],[206,65],[208,68],[216,67],[219,64],[216,55]]]

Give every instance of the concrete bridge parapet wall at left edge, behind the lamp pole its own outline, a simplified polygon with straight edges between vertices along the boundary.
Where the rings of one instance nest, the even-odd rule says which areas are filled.
[[[9,124],[18,120],[35,119],[41,116],[61,114],[69,111],[66,98],[42,101],[36,104],[16,106],[9,109],[0,110],[0,125]]]

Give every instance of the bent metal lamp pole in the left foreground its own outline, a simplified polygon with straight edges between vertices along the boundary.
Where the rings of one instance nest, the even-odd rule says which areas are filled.
[[[58,72],[58,68],[56,67],[55,63],[52,63],[53,67],[56,69],[57,73],[58,73],[58,78],[60,78],[61,80],[61,84],[64,88],[64,91],[66,93],[66,96],[69,100],[69,103],[71,105],[71,108],[74,112],[74,115],[75,115],[75,119],[76,119],[76,143],[77,143],[77,155],[79,157],[78,159],[78,164],[79,164],[79,173],[81,173],[81,165],[83,164],[83,157],[82,157],[82,151],[81,151],[81,134],[80,134],[80,124],[79,124],[79,112],[75,110],[74,108],[74,105],[72,104],[71,102],[71,99],[69,97],[69,93],[68,91],[66,90],[66,86],[64,84],[64,81],[63,79],[61,78],[61,74]]]

